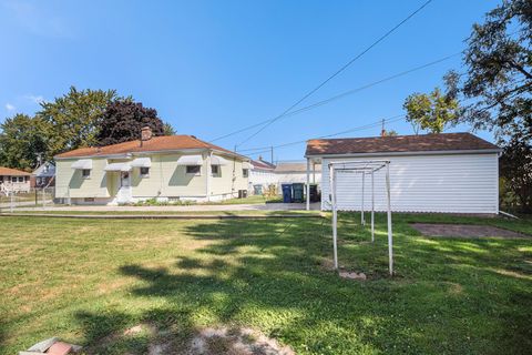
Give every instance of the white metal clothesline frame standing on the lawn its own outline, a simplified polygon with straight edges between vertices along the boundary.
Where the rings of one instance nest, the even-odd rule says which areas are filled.
[[[366,175],[371,175],[371,242],[375,242],[375,173],[386,169],[386,193],[387,193],[387,225],[388,225],[388,268],[393,275],[393,235],[391,229],[391,200],[390,200],[390,161],[338,161],[329,162],[329,200],[332,206],[332,251],[335,270],[338,270],[338,205],[337,205],[337,173],[352,173],[362,175],[362,194],[360,206],[360,224],[366,225],[365,219],[365,184]]]

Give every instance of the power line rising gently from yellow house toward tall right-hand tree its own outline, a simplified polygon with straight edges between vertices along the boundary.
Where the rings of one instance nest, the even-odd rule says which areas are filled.
[[[419,71],[419,70],[422,70],[422,69],[426,69],[426,68],[429,68],[429,67],[432,67],[432,65],[436,65],[436,64],[439,64],[441,62],[444,62],[453,57],[457,57],[459,54],[461,54],[462,52],[456,52],[456,53],[452,53],[452,54],[449,54],[449,55],[446,55],[443,58],[440,58],[440,59],[437,59],[434,61],[431,61],[431,62],[428,62],[428,63],[424,63],[422,65],[419,65],[419,67],[415,67],[415,68],[411,68],[411,69],[408,69],[408,70],[405,70],[402,72],[399,72],[397,74],[392,74],[390,77],[387,77],[387,78],[383,78],[383,79],[380,79],[380,80],[377,80],[377,81],[374,81],[374,82],[370,82],[370,83],[367,83],[367,84],[364,84],[359,88],[356,88],[356,89],[351,89],[351,90],[348,90],[348,91],[345,91],[345,92],[341,92],[337,95],[334,95],[329,99],[326,99],[326,100],[323,100],[323,101],[318,101],[318,102],[315,102],[313,104],[309,104],[307,106],[304,106],[301,109],[298,109],[298,110],[295,110],[295,111],[291,111],[291,112],[288,112],[286,113],[285,115],[283,115],[283,118],[288,118],[288,116],[291,116],[291,115],[296,115],[298,113],[301,113],[301,112],[305,112],[305,111],[308,111],[308,110],[311,110],[311,109],[315,109],[317,106],[320,106],[320,105],[324,105],[324,104],[327,104],[329,102],[332,102],[332,101],[336,101],[338,99],[342,99],[347,95],[351,95],[354,93],[357,93],[359,91],[364,91],[364,90],[367,90],[367,89],[370,89],[372,87],[376,87],[378,84],[381,84],[381,83],[385,83],[387,81],[390,81],[390,80],[393,80],[393,79],[397,79],[397,78],[400,78],[400,77],[405,77],[407,74],[410,74],[412,72],[416,72],[416,71]],[[279,118],[280,119],[280,118]],[[256,126],[259,126],[266,122],[270,121],[269,119],[268,120],[264,120],[264,121],[260,121],[258,123],[255,123],[255,124],[252,124],[249,126],[246,126],[246,128],[243,128],[243,129],[239,129],[237,131],[234,131],[234,132],[231,132],[231,133],[227,133],[227,134],[224,134],[224,135],[221,135],[221,136],[217,136],[213,140],[211,140],[209,142],[216,142],[216,141],[219,141],[219,140],[223,140],[223,139],[226,139],[228,136],[232,136],[232,135],[235,135],[235,134],[238,134],[238,133],[242,133],[242,132],[245,132],[245,131],[249,131]]]

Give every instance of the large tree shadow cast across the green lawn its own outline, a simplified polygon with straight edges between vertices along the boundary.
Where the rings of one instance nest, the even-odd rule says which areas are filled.
[[[135,322],[172,329],[176,347],[197,327],[250,326],[296,353],[525,354],[532,346],[531,270],[508,271],[523,241],[424,240],[397,221],[397,277],[387,272],[386,222],[377,242],[356,215],[340,216],[340,261],[370,280],[339,278],[330,258],[330,226],[319,219],[198,222],[186,233],[206,246],[165,268],[121,268],[141,281],[132,297],[164,306],[136,315],[79,314],[90,343],[114,334],[117,348],[146,344],[121,332]],[[510,257],[510,260],[509,260]],[[518,304],[519,306],[515,306]],[[131,342],[131,344],[129,343]],[[124,345],[125,344],[125,345]],[[112,348],[108,348],[110,353]]]

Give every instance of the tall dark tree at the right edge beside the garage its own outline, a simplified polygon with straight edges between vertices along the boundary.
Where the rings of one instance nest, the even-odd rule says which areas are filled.
[[[504,150],[501,174],[511,179],[511,189],[521,195],[528,211],[532,186],[531,42],[532,2],[503,1],[487,13],[484,23],[473,26],[464,52],[467,75],[460,88],[464,99],[475,100],[464,108],[460,121],[494,132]]]

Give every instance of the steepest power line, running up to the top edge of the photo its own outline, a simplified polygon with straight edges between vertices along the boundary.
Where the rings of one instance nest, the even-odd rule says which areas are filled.
[[[273,118],[272,120],[269,120],[264,126],[262,126],[260,129],[258,129],[255,133],[250,134],[249,136],[247,136],[244,141],[242,141],[241,143],[238,143],[237,145],[242,145],[244,143],[246,143],[247,141],[249,141],[252,138],[256,136],[258,133],[260,133],[262,131],[264,131],[267,126],[269,126],[270,124],[273,124],[274,122],[276,122],[277,120],[279,120],[282,116],[284,116],[286,113],[290,112],[294,108],[296,108],[299,103],[301,103],[303,101],[305,101],[308,97],[310,97],[311,94],[314,94],[316,91],[318,91],[319,89],[321,89],[325,84],[327,84],[330,80],[332,80],[335,77],[337,77],[338,74],[340,74],[342,71],[345,71],[347,68],[349,68],[354,62],[356,62],[358,59],[360,59],[364,54],[366,54],[367,52],[369,52],[371,49],[374,49],[377,44],[379,44],[381,41],[383,41],[387,37],[389,37],[391,33],[393,33],[398,28],[400,28],[402,24],[405,24],[408,20],[410,20],[412,17],[415,17],[418,12],[420,12],[422,9],[424,9],[424,7],[427,7],[430,2],[432,2],[432,0],[428,0],[426,1],[421,7],[419,7],[416,11],[411,12],[408,17],[406,17],[402,21],[400,21],[398,24],[396,24],[392,29],[388,30],[388,32],[386,32],[385,34],[382,34],[379,39],[377,39],[375,42],[372,42],[369,47],[367,47],[365,50],[362,50],[359,54],[357,54],[355,58],[352,58],[350,61],[348,61],[346,64],[344,64],[344,67],[341,67],[340,69],[338,69],[332,75],[330,75],[329,78],[327,78],[325,81],[323,81],[319,85],[317,85],[316,88],[314,88],[313,90],[310,90],[309,92],[307,92],[301,99],[299,99],[298,101],[296,101],[296,103],[294,103],[293,105],[290,105],[288,109],[286,109],[282,114]]]

